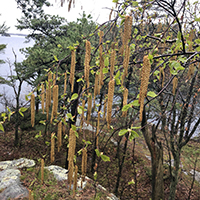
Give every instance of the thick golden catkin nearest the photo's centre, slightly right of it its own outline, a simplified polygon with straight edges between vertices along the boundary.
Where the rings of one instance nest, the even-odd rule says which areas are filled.
[[[115,90],[115,80],[112,79],[108,83],[108,105],[107,105],[107,124],[108,124],[108,129],[110,128],[110,123],[111,123],[114,90]]]

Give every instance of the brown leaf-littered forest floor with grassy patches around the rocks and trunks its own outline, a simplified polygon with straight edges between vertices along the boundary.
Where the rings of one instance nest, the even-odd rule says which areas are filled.
[[[41,185],[39,180],[39,166],[40,159],[45,157],[45,165],[49,166],[59,165],[65,167],[66,160],[66,149],[67,142],[63,142],[63,146],[60,152],[55,153],[55,162],[50,163],[50,134],[44,136],[43,134],[38,134],[38,130],[29,130],[20,132],[20,143],[18,147],[14,146],[14,131],[10,128],[6,133],[0,133],[0,161],[13,160],[18,158],[29,158],[36,161],[35,170],[25,170],[22,169],[22,182],[23,184],[33,190],[37,191],[37,197],[35,199],[73,199],[72,191],[67,187],[67,182],[58,182],[53,179],[50,175],[47,176],[45,184]],[[84,137],[86,141],[91,141],[94,138],[94,133],[90,131],[85,131],[84,134],[79,134],[77,139],[76,150],[80,150],[84,143],[82,142]],[[108,139],[107,135],[102,135],[99,138],[99,151],[103,151],[103,145]],[[118,140],[119,137],[115,136]],[[160,137],[162,140],[162,137]],[[104,141],[104,142],[103,142]],[[120,146],[120,161],[123,156],[123,144],[125,140],[122,140]],[[189,171],[194,168],[195,155],[194,150],[197,149],[199,143],[195,141],[189,142],[189,144],[183,149],[183,156],[181,157],[182,168],[179,173],[179,182],[177,185],[176,199],[186,200],[188,199],[189,190],[192,184],[192,176],[185,175],[184,172],[189,174]],[[102,150],[101,150],[102,149]],[[92,163],[92,145],[88,148],[88,168],[87,176],[94,179],[93,172],[91,172]],[[110,162],[104,162],[101,159],[97,159],[98,171],[97,171],[97,181],[88,182],[87,187],[78,191],[75,199],[77,200],[90,200],[90,199],[105,199],[106,194],[104,191],[96,191],[95,186],[97,184],[102,185],[107,189],[108,192],[114,193],[116,188],[117,176],[119,171],[119,159],[116,158],[117,146],[113,142],[108,142],[108,145],[104,148],[105,155],[110,157]],[[136,138],[135,145],[134,142],[128,142],[128,148],[124,160],[124,165],[122,169],[121,179],[118,188],[117,196],[121,200],[148,200],[151,198],[151,162],[148,159],[149,151],[144,142],[143,137]],[[164,152],[164,159],[167,160],[167,152]],[[77,155],[77,163],[79,167],[79,173],[81,173],[81,157]],[[169,195],[169,170],[168,165],[164,165],[164,193],[165,199]],[[200,172],[200,161],[197,162],[196,170]],[[200,199],[200,184],[196,181],[192,189],[191,198],[192,200]]]

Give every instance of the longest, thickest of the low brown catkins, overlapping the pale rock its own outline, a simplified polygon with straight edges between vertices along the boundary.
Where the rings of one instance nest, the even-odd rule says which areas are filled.
[[[75,155],[75,149],[76,149],[76,135],[74,130],[71,128],[69,131],[69,150],[68,150],[68,183],[69,188],[71,188],[72,184],[72,178],[73,178],[73,172],[74,172],[74,155]]]

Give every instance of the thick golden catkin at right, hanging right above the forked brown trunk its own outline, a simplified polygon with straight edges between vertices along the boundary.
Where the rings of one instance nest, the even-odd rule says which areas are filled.
[[[141,71],[141,85],[140,85],[140,121],[142,121],[142,112],[144,107],[144,99],[147,94],[148,84],[149,84],[149,75],[151,71],[151,64],[148,56],[144,56],[143,58],[143,66]]]

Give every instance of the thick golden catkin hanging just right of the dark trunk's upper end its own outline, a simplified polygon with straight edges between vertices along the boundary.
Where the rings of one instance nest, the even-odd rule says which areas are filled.
[[[91,44],[88,40],[85,43],[85,67],[84,67],[84,77],[87,83],[87,87],[89,88],[89,74],[90,74],[90,54],[91,54]]]

